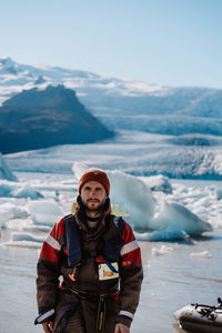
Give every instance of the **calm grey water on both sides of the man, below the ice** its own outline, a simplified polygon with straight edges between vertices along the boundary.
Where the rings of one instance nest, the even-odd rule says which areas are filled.
[[[215,235],[214,238],[213,234]],[[173,312],[189,303],[215,304],[221,296],[222,232],[191,243],[141,242],[144,266],[141,302],[131,333],[179,332]],[[1,238],[7,238],[1,231]],[[152,249],[161,245],[172,249],[169,254],[152,256]],[[209,251],[209,259],[193,258],[191,253]],[[36,263],[39,250],[0,249],[0,332],[43,332],[34,326]],[[181,331],[182,332],[182,331]]]

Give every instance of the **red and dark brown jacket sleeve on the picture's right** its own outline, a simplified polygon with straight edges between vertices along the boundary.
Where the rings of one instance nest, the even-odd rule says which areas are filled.
[[[121,250],[120,312],[117,322],[130,326],[139,304],[143,271],[140,248],[132,229],[124,221],[122,236],[124,244]]]

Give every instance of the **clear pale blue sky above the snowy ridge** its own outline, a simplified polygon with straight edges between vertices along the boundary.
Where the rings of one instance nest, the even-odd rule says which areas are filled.
[[[222,88],[221,0],[0,0],[0,58]]]

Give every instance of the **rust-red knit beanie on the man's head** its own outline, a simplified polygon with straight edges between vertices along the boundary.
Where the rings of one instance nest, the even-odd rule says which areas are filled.
[[[79,194],[81,192],[82,186],[90,181],[101,183],[104,186],[107,194],[110,194],[110,182],[108,175],[101,169],[88,169],[87,171],[84,171],[79,182]]]

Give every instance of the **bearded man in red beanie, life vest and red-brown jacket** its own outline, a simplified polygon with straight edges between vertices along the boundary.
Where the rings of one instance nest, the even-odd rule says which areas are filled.
[[[107,173],[87,170],[75,212],[59,221],[42,245],[36,324],[46,333],[130,332],[141,254],[130,225],[111,214],[109,193]]]

